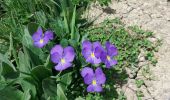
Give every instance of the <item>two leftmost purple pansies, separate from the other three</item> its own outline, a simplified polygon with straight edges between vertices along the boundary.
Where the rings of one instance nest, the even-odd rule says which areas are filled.
[[[46,31],[43,34],[42,28],[38,28],[32,36],[34,45],[38,48],[44,47],[49,40],[53,39],[53,32]],[[51,61],[56,64],[55,69],[57,71],[63,71],[72,66],[72,61],[75,57],[75,52],[73,47],[68,46],[63,48],[61,45],[55,45],[50,52]]]

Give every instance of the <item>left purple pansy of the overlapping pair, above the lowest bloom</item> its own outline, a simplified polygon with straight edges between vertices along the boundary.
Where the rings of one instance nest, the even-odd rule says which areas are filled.
[[[100,53],[102,51],[102,46],[100,42],[94,42],[93,44],[89,41],[84,41],[82,43],[82,54],[86,59],[86,62],[92,64],[99,64],[101,62]]]

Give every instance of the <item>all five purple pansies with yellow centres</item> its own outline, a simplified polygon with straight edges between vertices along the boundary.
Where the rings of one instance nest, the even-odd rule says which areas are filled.
[[[49,40],[53,39],[53,32],[46,31],[43,34],[42,29],[38,28],[37,32],[33,34],[32,39],[36,47],[42,48]],[[84,41],[82,43],[82,55],[86,62],[91,64],[104,63],[106,68],[111,68],[117,64],[117,61],[113,59],[117,54],[117,48],[110,42],[106,42],[105,48],[102,47],[100,42],[91,43],[90,41]],[[55,45],[51,49],[50,55],[51,61],[56,64],[55,69],[63,71],[72,66],[75,51],[71,46],[63,48],[61,45]],[[88,85],[87,92],[101,92],[103,90],[102,85],[106,82],[106,76],[100,67],[95,71],[90,67],[84,67],[81,70],[81,76],[84,79],[84,83]]]

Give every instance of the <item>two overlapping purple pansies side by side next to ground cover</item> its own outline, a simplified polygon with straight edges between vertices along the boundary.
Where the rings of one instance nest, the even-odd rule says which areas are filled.
[[[82,54],[86,62],[91,64],[103,62],[106,68],[111,68],[111,66],[117,64],[117,61],[113,57],[118,54],[118,51],[110,42],[106,42],[104,49],[100,42],[91,43],[90,41],[84,41],[82,44]]]

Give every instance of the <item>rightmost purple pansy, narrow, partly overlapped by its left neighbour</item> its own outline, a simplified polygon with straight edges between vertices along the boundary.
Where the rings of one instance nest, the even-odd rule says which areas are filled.
[[[113,59],[114,56],[118,54],[117,48],[110,42],[106,42],[106,50],[101,53],[101,60],[105,63],[106,68],[111,68],[111,66],[116,65],[117,61]]]

